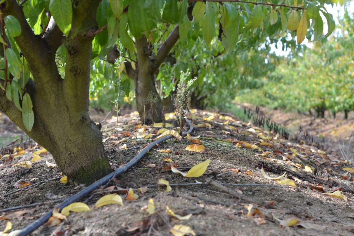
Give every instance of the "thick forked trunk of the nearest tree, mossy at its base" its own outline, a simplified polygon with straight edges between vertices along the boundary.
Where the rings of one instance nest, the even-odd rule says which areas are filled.
[[[26,85],[33,102],[34,125],[29,132],[22,114],[0,92],[0,110],[33,140],[46,148],[73,184],[92,183],[111,172],[100,128],[90,119],[89,82],[92,37],[99,0],[80,1],[73,7],[72,29],[65,39],[65,80],[58,73],[55,52],[63,34],[53,22],[43,38],[35,36],[16,0],[2,4],[4,15],[14,15],[22,34],[15,38],[34,81]]]

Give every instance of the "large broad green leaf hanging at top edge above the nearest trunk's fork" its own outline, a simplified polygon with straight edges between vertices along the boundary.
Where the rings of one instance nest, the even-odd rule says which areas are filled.
[[[50,0],[49,11],[59,29],[68,36],[73,19],[71,0]]]

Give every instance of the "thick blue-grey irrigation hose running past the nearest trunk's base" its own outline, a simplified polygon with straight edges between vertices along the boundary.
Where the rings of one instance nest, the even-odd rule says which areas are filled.
[[[187,133],[191,133],[193,131],[193,128],[194,128],[192,122],[190,122],[187,119],[185,119],[185,121],[188,123],[190,128],[189,128],[189,130],[187,132],[183,132],[182,136],[186,136]],[[106,175],[102,179],[97,180],[95,183],[87,186],[87,188],[81,190],[80,192],[78,192],[77,194],[73,195],[72,197],[67,198],[67,200],[65,200],[64,202],[62,202],[61,204],[59,204],[55,208],[59,208],[59,211],[61,211],[64,207],[68,206],[69,204],[77,202],[82,197],[84,197],[87,194],[91,193],[92,191],[98,189],[102,185],[106,184],[110,179],[117,177],[118,175],[120,175],[123,172],[126,172],[129,168],[134,166],[145,154],[147,154],[148,151],[153,149],[156,144],[162,143],[162,142],[164,142],[167,139],[170,139],[172,137],[173,137],[172,135],[165,136],[163,138],[160,138],[160,139],[150,143],[141,152],[139,152],[139,154],[136,155],[130,162],[128,162],[125,166],[119,167],[114,172]],[[52,211],[50,211],[47,214],[43,215],[41,218],[39,218],[38,220],[34,221],[32,224],[26,226],[23,230],[21,230],[21,232],[19,232],[18,236],[29,235],[34,230],[39,228],[41,225],[45,224],[48,221],[48,219],[52,216]]]

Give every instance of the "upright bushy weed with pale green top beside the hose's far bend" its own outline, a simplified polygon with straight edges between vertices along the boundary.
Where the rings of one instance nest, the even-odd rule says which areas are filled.
[[[188,97],[190,94],[190,86],[193,85],[196,78],[188,80],[190,75],[189,69],[186,72],[181,71],[181,77],[179,78],[177,85],[177,95],[175,98],[175,112],[178,117],[179,134],[182,134],[184,125],[184,114],[187,111]]]

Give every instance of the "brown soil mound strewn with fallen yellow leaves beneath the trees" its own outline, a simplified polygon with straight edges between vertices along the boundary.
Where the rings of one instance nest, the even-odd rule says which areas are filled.
[[[338,151],[315,143],[285,140],[224,114],[193,110],[188,119],[195,125],[192,136],[198,137],[206,152],[185,150],[193,144],[187,139],[181,142],[167,140],[145,155],[136,166],[113,179],[105,190],[82,198],[80,201],[87,203],[91,211],[73,212],[59,225],[41,226],[32,235],[172,235],[170,229],[179,224],[190,226],[195,235],[354,234],[353,173],[343,171],[343,167],[353,165],[343,160]],[[166,122],[173,125],[170,129],[177,129],[176,119]],[[105,149],[113,168],[129,162],[158,136],[160,128],[147,126],[142,129],[139,124],[136,113],[118,117],[118,124],[116,117],[103,123]],[[31,168],[13,166],[30,161],[33,152],[41,149],[35,143],[21,145],[24,153],[17,150],[21,155],[17,155],[13,148],[1,153],[0,232],[8,221],[13,224],[12,230],[24,228],[55,207],[62,201],[60,199],[84,188],[60,183],[58,179],[48,181],[61,177],[61,171],[46,163],[55,163],[46,152],[40,154],[42,159],[33,162]],[[157,151],[167,149],[171,152]],[[172,159],[183,172],[207,159],[211,161],[204,175],[186,178],[173,173],[168,167],[170,162],[164,161],[166,158]],[[305,166],[310,169],[305,171],[308,168]],[[265,178],[262,167],[273,178],[286,172],[282,179],[292,180],[296,187]],[[31,185],[11,193],[21,189],[14,186],[20,179]],[[166,186],[156,185],[159,179],[176,185],[165,193]],[[198,184],[210,179],[238,186],[226,185],[223,189]],[[190,185],[183,185],[188,183]],[[138,191],[148,185],[153,186],[146,192],[144,188],[143,193]],[[129,188],[138,195],[137,200],[125,199]],[[337,190],[342,194],[341,198],[326,195]],[[123,206],[95,207],[99,198],[112,193],[122,197]],[[238,199],[237,194],[244,197]],[[150,198],[154,199],[156,206],[152,215],[147,213]],[[259,204],[253,203],[250,212],[246,208],[250,208],[249,201]],[[1,212],[1,209],[33,203],[44,204]],[[192,217],[178,220],[167,215],[166,206],[176,214],[192,214]],[[273,216],[284,221],[279,222]],[[292,222],[296,224],[287,226],[288,219],[294,219]]]

